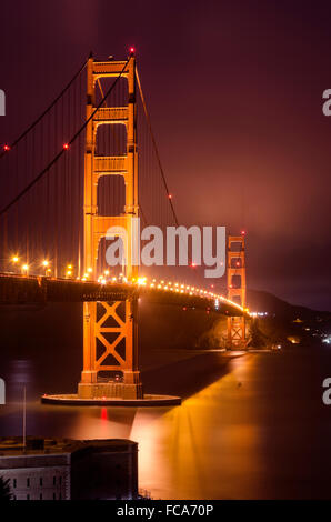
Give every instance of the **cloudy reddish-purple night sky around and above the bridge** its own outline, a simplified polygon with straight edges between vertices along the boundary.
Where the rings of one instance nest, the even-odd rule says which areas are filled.
[[[10,142],[90,50],[138,67],[181,224],[248,230],[248,282],[331,310],[328,1],[1,2]]]

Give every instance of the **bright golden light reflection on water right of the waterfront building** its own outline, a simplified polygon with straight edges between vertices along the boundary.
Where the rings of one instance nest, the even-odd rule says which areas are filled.
[[[141,481],[156,496],[231,498],[239,468],[247,489],[244,473],[258,463],[259,430],[249,425],[221,428],[217,398],[227,379],[164,414],[154,412],[151,419],[149,412],[139,412],[134,419],[131,439],[139,441]],[[227,452],[229,448],[234,451]],[[151,469],[158,474],[157,489]]]

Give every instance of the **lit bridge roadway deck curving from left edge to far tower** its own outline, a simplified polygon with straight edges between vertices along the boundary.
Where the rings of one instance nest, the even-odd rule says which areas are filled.
[[[197,289],[197,292],[200,290]],[[192,293],[192,292],[191,292]],[[241,307],[218,295],[198,294],[175,289],[151,288],[144,284],[54,279],[42,275],[0,273],[0,304],[27,304],[46,302],[124,301],[134,297],[148,301],[177,304],[221,314],[242,315]]]

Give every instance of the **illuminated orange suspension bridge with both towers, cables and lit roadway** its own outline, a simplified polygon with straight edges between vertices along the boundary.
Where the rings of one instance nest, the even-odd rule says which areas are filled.
[[[228,238],[227,297],[182,282],[192,279],[192,269],[197,279],[192,261],[177,267],[178,281],[169,268],[143,267],[142,274],[133,262],[137,218],[161,230],[179,227],[133,48],[124,61],[98,61],[91,54],[43,113],[3,144],[0,169],[0,303],[83,303],[78,393],[44,395],[43,402],[180,401],[143,393],[141,295],[227,315],[229,348],[245,348],[244,233]],[[126,264],[111,269],[106,261],[110,228],[119,231],[126,255]]]

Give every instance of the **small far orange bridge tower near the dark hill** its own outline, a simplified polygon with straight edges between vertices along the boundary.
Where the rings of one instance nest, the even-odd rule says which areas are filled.
[[[244,234],[228,237],[228,299],[245,308]],[[228,318],[228,348],[247,348],[244,315]]]

